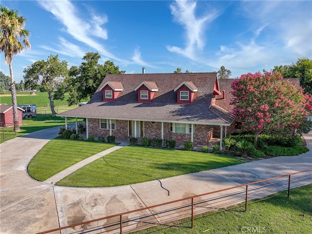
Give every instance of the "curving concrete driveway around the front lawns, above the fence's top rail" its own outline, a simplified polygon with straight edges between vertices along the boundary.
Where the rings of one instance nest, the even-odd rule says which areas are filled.
[[[195,194],[312,168],[309,152],[112,188],[68,188],[31,179],[27,165],[58,128],[30,133],[0,144],[0,233],[32,234]],[[122,156],[122,155],[120,155]],[[52,181],[55,182],[55,181]],[[312,181],[311,181],[312,182]]]

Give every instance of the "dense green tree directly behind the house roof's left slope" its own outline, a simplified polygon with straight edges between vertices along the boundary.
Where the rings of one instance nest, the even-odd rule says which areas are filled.
[[[69,92],[70,98],[68,105],[75,105],[81,99],[88,99],[98,89],[106,74],[123,74],[125,71],[119,71],[119,67],[109,60],[98,64],[100,59],[98,52],[88,52],[83,57],[86,62],[81,63],[79,67],[72,66],[69,70],[69,76],[64,83],[58,87],[55,98],[63,100],[64,93]]]

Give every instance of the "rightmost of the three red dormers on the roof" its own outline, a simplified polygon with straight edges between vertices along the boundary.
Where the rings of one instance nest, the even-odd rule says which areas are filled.
[[[192,103],[195,92],[198,91],[197,87],[190,81],[184,81],[178,85],[175,89],[177,92],[177,103]]]

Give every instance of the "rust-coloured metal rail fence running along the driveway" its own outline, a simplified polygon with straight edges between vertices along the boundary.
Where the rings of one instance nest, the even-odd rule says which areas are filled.
[[[242,184],[218,191],[207,192],[187,198],[178,199],[133,211],[118,213],[66,227],[40,232],[66,234],[124,234],[155,226],[170,226],[170,223],[181,219],[191,219],[197,214],[219,211],[227,207],[244,204],[248,208],[248,200],[261,201],[270,198],[278,191],[290,189],[312,183],[312,169],[276,176],[248,184]],[[185,222],[185,221],[184,221]],[[182,222],[181,222],[182,223]],[[176,223],[175,223],[176,225]]]

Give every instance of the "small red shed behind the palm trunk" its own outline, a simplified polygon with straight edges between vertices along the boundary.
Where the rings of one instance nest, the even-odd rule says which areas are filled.
[[[19,124],[23,124],[22,113],[23,109],[18,107]],[[13,121],[13,106],[7,104],[0,104],[0,127],[14,126]]]

